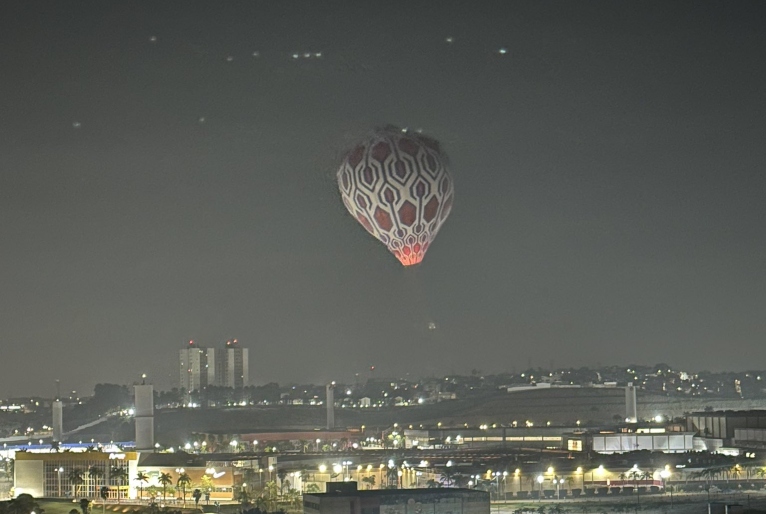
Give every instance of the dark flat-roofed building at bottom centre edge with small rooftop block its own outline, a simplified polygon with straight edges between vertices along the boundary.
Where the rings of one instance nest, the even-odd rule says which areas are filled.
[[[328,492],[303,495],[304,514],[489,514],[489,493],[476,489],[357,490],[356,482],[330,482]]]

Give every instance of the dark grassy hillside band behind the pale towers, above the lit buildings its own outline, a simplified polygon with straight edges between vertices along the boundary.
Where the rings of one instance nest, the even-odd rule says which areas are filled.
[[[638,394],[641,418],[662,414],[679,417],[687,412],[713,409],[766,409],[766,400],[731,400],[715,398],[683,398]],[[493,392],[484,396],[444,401],[411,407],[336,409],[338,427],[368,428],[401,425],[436,424],[444,426],[509,424],[516,420],[532,420],[536,424],[550,421],[554,425],[603,425],[625,415],[622,389],[547,389],[513,394]],[[271,429],[314,429],[325,426],[325,409],[316,406],[255,406],[224,409],[159,410],[155,418],[157,440],[178,442],[189,440],[194,432],[244,433]],[[84,431],[74,438],[91,437],[132,440],[132,423],[106,422]]]

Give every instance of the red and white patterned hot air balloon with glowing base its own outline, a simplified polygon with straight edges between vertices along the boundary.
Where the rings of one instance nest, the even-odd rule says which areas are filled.
[[[423,260],[454,198],[439,143],[396,127],[358,143],[338,169],[343,203],[404,266]]]

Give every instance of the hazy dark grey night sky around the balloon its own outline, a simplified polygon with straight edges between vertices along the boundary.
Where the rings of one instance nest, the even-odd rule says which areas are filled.
[[[5,1],[0,396],[231,337],[255,383],[763,368],[765,58],[755,1]],[[334,183],[386,123],[451,158],[417,270]]]

